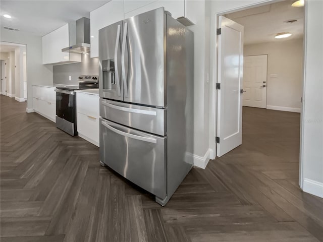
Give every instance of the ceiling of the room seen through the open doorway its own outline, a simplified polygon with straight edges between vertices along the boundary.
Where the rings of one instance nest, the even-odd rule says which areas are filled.
[[[304,8],[292,7],[295,1],[282,1],[225,15],[244,26],[244,44],[286,41],[301,38],[304,27]],[[296,19],[295,23],[286,23]],[[292,36],[276,39],[275,35],[290,32]]]

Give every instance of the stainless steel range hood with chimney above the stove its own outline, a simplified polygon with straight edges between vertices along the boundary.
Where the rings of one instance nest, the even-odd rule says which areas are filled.
[[[76,20],[76,44],[62,49],[62,52],[81,54],[90,52],[90,20],[88,18]]]

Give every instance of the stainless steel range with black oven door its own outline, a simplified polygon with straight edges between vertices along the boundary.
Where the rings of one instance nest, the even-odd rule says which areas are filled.
[[[57,87],[56,91],[56,127],[71,136],[76,131],[76,90],[98,88],[98,76],[79,76],[79,86]]]

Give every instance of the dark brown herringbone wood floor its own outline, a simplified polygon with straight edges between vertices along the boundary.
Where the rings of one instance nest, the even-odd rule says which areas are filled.
[[[2,242],[323,241],[323,199],[298,187],[298,113],[244,107],[243,144],[161,207],[25,108],[1,95]]]

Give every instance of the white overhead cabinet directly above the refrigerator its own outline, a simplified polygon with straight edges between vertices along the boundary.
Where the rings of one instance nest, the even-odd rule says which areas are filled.
[[[125,13],[125,19],[136,16],[138,14],[142,14],[148,12],[150,10],[154,10],[160,7],[164,7],[165,11],[168,11],[172,14],[173,18],[183,17],[184,13],[184,5],[186,0],[175,0],[175,1],[167,1],[167,0],[158,0],[152,2],[148,5],[145,5],[141,8],[135,9],[129,13]],[[125,2],[126,4],[126,2]]]

